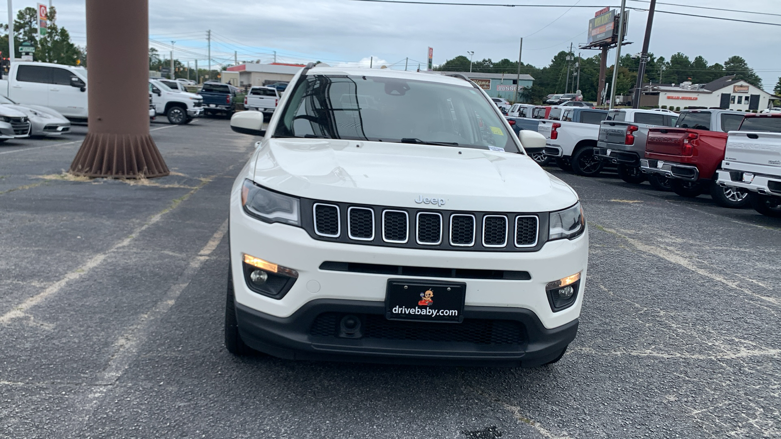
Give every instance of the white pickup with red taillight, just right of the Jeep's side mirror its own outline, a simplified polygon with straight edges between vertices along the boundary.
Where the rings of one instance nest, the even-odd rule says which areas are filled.
[[[599,124],[608,116],[607,110],[588,107],[554,107],[548,119],[540,120],[537,132],[544,135],[545,155],[556,159],[562,170],[594,177],[604,163],[594,155],[599,138]]]

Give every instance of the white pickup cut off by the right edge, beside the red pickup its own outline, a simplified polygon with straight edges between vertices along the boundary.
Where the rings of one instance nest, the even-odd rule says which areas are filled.
[[[721,187],[747,189],[751,207],[781,218],[781,113],[747,114],[740,128],[729,131]]]

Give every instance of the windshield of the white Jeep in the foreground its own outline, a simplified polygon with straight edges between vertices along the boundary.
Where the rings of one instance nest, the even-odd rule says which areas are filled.
[[[317,137],[519,152],[480,91],[426,80],[309,75],[275,137]]]

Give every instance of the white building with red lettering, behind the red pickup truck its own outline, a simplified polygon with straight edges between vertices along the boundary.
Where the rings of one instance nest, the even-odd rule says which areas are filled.
[[[754,87],[735,76],[722,77],[708,84],[647,84],[640,95],[640,105],[681,109],[704,107],[741,111],[763,110],[773,99],[781,99],[761,88]]]

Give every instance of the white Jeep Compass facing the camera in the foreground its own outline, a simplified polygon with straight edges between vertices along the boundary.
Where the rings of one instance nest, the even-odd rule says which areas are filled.
[[[575,338],[578,197],[465,77],[310,64],[267,130],[231,127],[263,139],[230,196],[230,352],[533,367]]]

